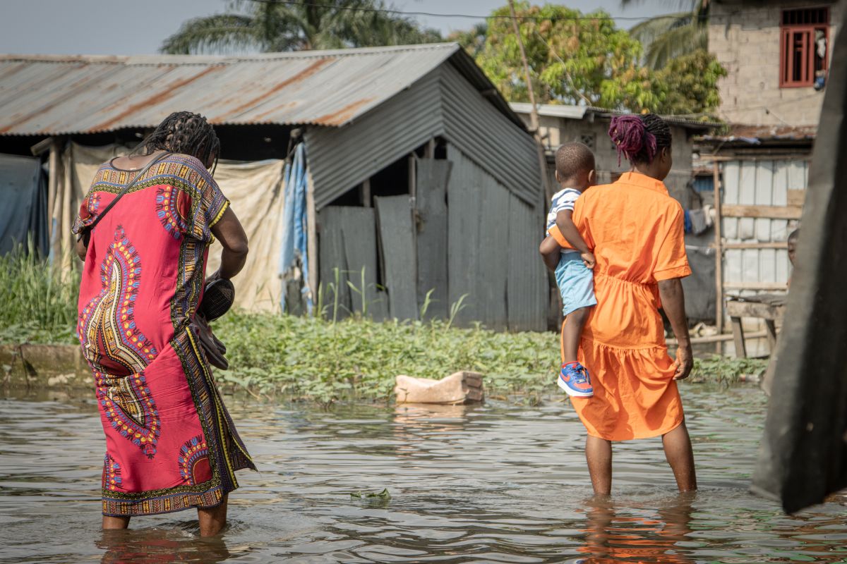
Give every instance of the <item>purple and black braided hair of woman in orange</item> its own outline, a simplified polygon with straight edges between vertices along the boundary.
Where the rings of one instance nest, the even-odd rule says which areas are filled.
[[[617,147],[618,165],[621,155],[633,164],[653,162],[662,148],[671,146],[671,129],[655,113],[613,117],[609,137]]]

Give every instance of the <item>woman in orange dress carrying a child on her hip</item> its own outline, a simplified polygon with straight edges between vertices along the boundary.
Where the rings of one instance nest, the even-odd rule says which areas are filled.
[[[596,257],[597,305],[580,348],[594,397],[571,398],[588,430],[591,484],[597,494],[612,490],[612,441],[661,435],[679,490],[696,490],[676,382],[693,364],[680,280],[691,269],[682,207],[662,183],[672,166],[671,132],[662,118],[647,114],[612,119],[609,134],[632,170],[587,190],[573,210]],[[556,229],[552,233],[566,244]],[[676,361],[667,354],[660,308],[679,343]]]

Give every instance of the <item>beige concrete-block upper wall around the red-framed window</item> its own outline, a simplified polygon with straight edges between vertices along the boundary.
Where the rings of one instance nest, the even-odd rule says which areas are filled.
[[[718,83],[722,119],[749,125],[817,124],[826,89],[779,87],[779,25],[783,9],[822,5],[831,6],[829,44],[833,45],[842,14],[832,0],[712,4],[709,51],[728,72]],[[829,55],[832,49],[828,51]]]

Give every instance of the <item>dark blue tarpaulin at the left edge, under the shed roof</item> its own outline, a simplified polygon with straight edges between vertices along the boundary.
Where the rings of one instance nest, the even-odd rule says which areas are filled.
[[[39,159],[0,154],[0,201],[0,255],[31,238],[47,256],[47,183]]]

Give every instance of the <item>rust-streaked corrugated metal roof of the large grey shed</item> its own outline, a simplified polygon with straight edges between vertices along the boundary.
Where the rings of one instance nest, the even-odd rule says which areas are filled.
[[[246,57],[0,55],[0,134],[153,127],[181,109],[218,124],[337,127],[458,52],[456,43],[435,43]],[[469,57],[456,58],[468,79],[487,82],[462,65]],[[492,102],[518,120],[501,96]]]

